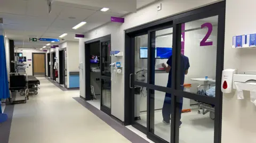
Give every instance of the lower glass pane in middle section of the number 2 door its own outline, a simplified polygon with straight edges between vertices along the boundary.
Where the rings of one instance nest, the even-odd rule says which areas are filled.
[[[150,99],[154,100],[154,105],[151,104],[151,113],[153,112],[154,116],[151,116],[150,130],[156,136],[170,142],[171,141],[171,98],[170,94],[167,94],[162,91],[151,90]],[[153,121],[154,120],[154,121]]]

